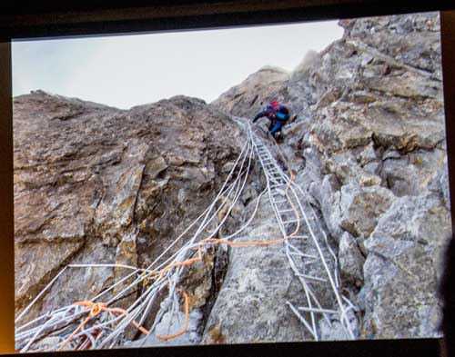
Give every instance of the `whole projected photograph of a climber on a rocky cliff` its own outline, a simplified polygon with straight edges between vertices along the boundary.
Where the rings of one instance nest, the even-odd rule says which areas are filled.
[[[18,352],[440,336],[439,13],[12,57]]]

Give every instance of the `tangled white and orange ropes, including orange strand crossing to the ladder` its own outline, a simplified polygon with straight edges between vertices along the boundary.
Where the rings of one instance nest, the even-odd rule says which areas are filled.
[[[71,268],[122,268],[131,270],[131,273],[126,274],[122,279],[118,280],[116,283],[112,284],[106,290],[101,293],[98,293],[94,298],[89,301],[75,302],[71,305],[68,305],[63,308],[56,309],[52,312],[46,312],[45,314],[39,316],[31,322],[26,322],[24,325],[16,328],[16,343],[21,347],[21,352],[26,352],[35,342],[42,340],[45,336],[57,336],[62,334],[62,332],[69,333],[65,338],[64,342],[58,342],[56,345],[51,346],[46,351],[61,351],[65,348],[68,342],[74,341],[79,336],[86,336],[86,341],[82,344],[78,344],[76,349],[86,349],[86,348],[110,348],[118,345],[120,341],[120,336],[125,332],[125,329],[128,325],[133,325],[136,329],[145,334],[149,335],[151,332],[155,332],[155,336],[159,341],[170,341],[176,339],[179,336],[182,336],[187,332],[188,322],[189,322],[189,297],[188,293],[185,290],[182,290],[178,287],[179,282],[181,281],[180,277],[183,273],[185,267],[191,266],[194,263],[200,263],[203,261],[204,248],[210,244],[220,244],[227,245],[231,247],[253,247],[253,246],[270,246],[277,245],[280,243],[286,243],[287,250],[289,239],[293,238],[301,228],[302,217],[305,220],[305,223],[308,225],[308,219],[305,214],[301,215],[299,213],[303,212],[301,204],[298,202],[297,195],[294,192],[294,187],[297,184],[295,183],[295,174],[290,170],[290,165],[288,163],[288,158],[280,152],[278,147],[279,154],[283,155],[285,163],[288,165],[289,176],[286,176],[286,186],[284,190],[284,195],[286,200],[291,208],[291,212],[295,215],[296,228],[292,233],[284,233],[283,236],[278,239],[271,241],[238,241],[239,234],[241,234],[247,227],[248,224],[253,220],[257,210],[258,204],[261,200],[263,193],[267,190],[270,190],[268,177],[268,188],[264,190],[263,193],[260,193],[256,203],[256,207],[251,217],[248,219],[248,222],[242,226],[237,232],[231,233],[225,238],[217,238],[217,232],[226,222],[227,216],[232,211],[235,204],[238,202],[238,199],[243,192],[243,189],[247,183],[248,175],[250,173],[250,167],[252,160],[255,156],[255,144],[253,141],[253,134],[251,130],[246,130],[248,135],[248,140],[243,145],[238,158],[236,159],[235,164],[227,174],[225,182],[222,184],[219,192],[217,193],[215,199],[210,203],[207,209],[201,213],[196,220],[187,226],[182,233],[180,233],[177,238],[170,244],[167,245],[167,248],[160,253],[155,261],[147,266],[147,268],[139,269],[133,266],[128,265],[119,265],[119,264],[73,264],[67,267]],[[273,140],[273,138],[272,138]],[[236,174],[237,173],[237,174]],[[284,175],[284,174],[283,174]],[[296,196],[297,204],[293,202],[289,193]],[[281,193],[282,194],[282,193]],[[218,208],[217,208],[218,204]],[[227,207],[227,209],[226,209]],[[221,219],[220,213],[222,211],[224,217]],[[200,239],[204,230],[207,229],[210,223],[216,222],[216,227],[211,230],[204,239]],[[198,225],[197,225],[198,224]],[[191,232],[191,229],[197,227],[195,233],[188,238],[186,243],[183,244],[176,252],[172,253],[171,249],[175,245],[187,237],[188,233]],[[236,238],[235,242],[231,239]],[[194,250],[197,250],[197,256],[195,258],[188,258],[193,256]],[[320,252],[319,252],[320,253]],[[293,267],[294,269],[294,267]],[[47,291],[50,286],[56,282],[56,279],[64,273],[66,268],[64,268],[56,277],[46,285],[45,289],[38,293],[35,299],[25,308],[23,312],[16,318],[16,322],[22,319],[25,316],[25,313],[28,312],[31,306],[42,296],[45,291]],[[301,278],[299,278],[301,279]],[[132,283],[126,283],[130,282]],[[103,297],[106,297],[107,293],[114,292],[116,287],[120,286],[121,288],[113,293],[113,296],[106,301],[106,298],[101,300]],[[135,290],[136,289],[136,290]],[[109,307],[115,304],[119,299],[129,296],[131,293],[135,293],[139,289],[140,293],[137,294],[136,300],[132,302],[125,310],[117,307]],[[163,299],[159,295],[164,289],[167,289],[167,297],[169,303],[164,304],[154,316],[154,322],[152,326],[147,330],[144,327],[147,316],[152,311],[152,307]],[[311,291],[308,289],[307,295],[311,295]],[[183,298],[183,310],[185,314],[185,321],[183,326],[177,333],[160,334],[157,332],[157,323],[162,321],[164,313],[170,313],[169,317],[169,328],[172,319],[175,316],[174,313],[177,310],[181,309],[180,303]],[[344,298],[344,297],[343,297]],[[308,298],[309,300],[309,298]],[[102,302],[100,302],[102,301]],[[79,312],[76,307],[85,307],[85,312]],[[320,306],[319,306],[320,307]],[[311,306],[309,306],[311,308]],[[86,313],[88,315],[86,316]],[[106,314],[102,314],[106,312]],[[311,312],[313,313],[313,312]],[[345,311],[342,312],[343,316],[346,315]],[[101,317],[103,316],[103,317]],[[83,319],[81,322],[81,318]],[[104,318],[104,322],[101,321]],[[95,322],[96,321],[96,322]],[[44,323],[43,323],[44,322]],[[86,328],[88,322],[90,327]],[[77,325],[76,325],[77,323]],[[63,327],[62,327],[63,326]],[[76,327],[75,327],[76,326]],[[148,326],[147,326],[148,327]],[[314,319],[313,319],[313,330]],[[145,342],[146,339],[143,339]],[[35,347],[34,351],[42,351],[40,347]]]

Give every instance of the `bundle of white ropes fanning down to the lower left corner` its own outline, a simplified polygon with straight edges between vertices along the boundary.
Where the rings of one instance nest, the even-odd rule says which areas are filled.
[[[70,331],[70,334],[68,337],[66,337],[66,340],[62,343],[58,343],[58,346],[56,347],[57,349],[65,347],[65,345],[68,343],[68,341],[76,338],[76,336],[81,335],[81,333],[97,333],[96,334],[96,344],[98,344],[98,347],[109,347],[113,346],[114,343],[116,343],[118,336],[120,335],[121,332],[126,328],[126,325],[129,323],[135,324],[135,318],[138,317],[140,314],[142,314],[142,318],[140,319],[139,322],[136,322],[136,327],[142,327],[142,324],[144,322],[144,319],[147,316],[147,312],[150,311],[151,306],[153,303],[157,300],[157,294],[166,286],[169,286],[169,283],[165,282],[165,279],[159,276],[157,272],[161,268],[166,268],[167,265],[172,264],[172,263],[177,263],[176,260],[181,260],[181,257],[188,251],[188,249],[191,248],[192,244],[197,238],[197,235],[200,234],[205,227],[207,227],[207,224],[212,222],[214,217],[217,216],[217,212],[219,209],[215,212],[213,212],[213,209],[216,205],[216,203],[219,200],[222,200],[223,202],[221,203],[220,207],[227,203],[227,198],[231,195],[234,195],[234,198],[231,200],[229,209],[227,210],[227,214],[230,213],[230,210],[234,206],[234,204],[237,202],[238,197],[240,196],[240,193],[243,190],[243,187],[245,186],[247,179],[248,179],[248,173],[249,173],[249,167],[251,165],[251,159],[253,155],[253,145],[251,143],[251,140],[246,142],[246,144],[243,146],[241,153],[238,155],[238,158],[236,160],[236,163],[232,167],[230,173],[227,176],[227,179],[225,183],[223,183],[223,186],[221,187],[219,193],[217,194],[217,197],[209,205],[207,210],[202,213],[196,221],[191,223],[188,227],[187,230],[185,230],[183,233],[181,233],[177,239],[174,241],[174,243],[171,243],[167,249],[160,254],[156,261],[150,266],[148,266],[146,269],[138,269],[136,267],[129,267],[129,266],[124,266],[124,265],[119,265],[119,264],[74,264],[72,266],[68,265],[66,268],[71,267],[71,268],[125,268],[125,269],[131,269],[132,273],[127,274],[124,278],[122,278],[120,281],[114,283],[110,287],[108,287],[105,291],[102,293],[99,293],[96,295],[95,298],[93,298],[88,304],[92,303],[94,304],[92,306],[94,309],[90,308],[90,313],[86,318],[80,322],[76,328],[74,328],[72,331]],[[249,159],[248,159],[249,157]],[[238,170],[237,174],[234,174]],[[227,185],[227,182],[230,179],[233,179],[234,182]],[[225,196],[225,197],[224,197]],[[225,217],[226,218],[226,217]],[[178,240],[182,239],[186,233],[189,232],[192,226],[197,224],[197,222],[200,222],[202,220],[202,223],[199,224],[199,227],[197,228],[197,233],[191,238],[181,249],[177,250],[177,253],[172,254],[169,258],[167,258],[167,261],[164,263],[161,263],[159,267],[154,267],[154,264],[158,263],[159,259],[165,257],[165,254],[169,251],[169,249],[177,243]],[[218,224],[217,229],[224,223],[222,221],[221,223]],[[212,242],[215,243],[215,242]],[[170,260],[170,262],[169,262]],[[43,296],[43,294],[50,289],[53,283],[56,282],[56,279],[66,271],[66,268],[64,268],[60,273],[56,275],[56,277],[48,283],[48,285],[45,286],[45,289],[39,293],[34,301],[32,301],[26,308],[25,310],[17,317],[16,322],[18,322],[20,319],[22,319],[25,316],[25,313],[30,310],[32,305]],[[178,270],[178,269],[177,269]],[[161,269],[162,271],[162,269]],[[141,273],[135,278],[135,275],[137,273]],[[173,273],[173,275],[176,275],[178,272]],[[110,299],[108,302],[96,302],[98,299],[101,298],[102,295],[106,295],[106,293],[113,291],[113,289],[120,285],[121,283],[125,283],[127,279],[134,278],[133,283],[129,283],[126,287],[123,287],[122,290],[119,293],[116,293],[116,295]],[[167,276],[167,280],[169,282],[175,282],[177,280],[177,275],[176,277],[169,277]],[[171,285],[174,284],[171,282]],[[166,283],[166,284],[165,284]],[[123,296],[126,296],[131,289],[133,289],[137,284],[141,285],[141,288],[143,290],[143,293],[140,294],[140,296],[136,299],[135,302],[133,302],[126,310],[114,310],[117,308],[108,308],[111,303],[115,302],[116,300],[122,298]],[[175,290],[169,289],[169,292],[173,292],[175,294]],[[184,294],[184,300],[187,301],[187,293]],[[185,303],[186,305],[186,303]],[[75,304],[68,305],[64,308],[56,309],[55,311],[52,312],[46,312],[44,315],[39,316],[35,320],[31,322],[26,322],[24,325],[16,328],[16,341],[21,342],[23,346],[23,350],[21,352],[26,352],[27,349],[33,344],[34,341],[40,341],[42,340],[43,336],[45,335],[56,335],[56,331],[60,328],[62,324],[67,326],[65,330],[71,329],[71,324],[74,323],[76,320],[81,318],[81,313],[77,312],[74,310],[74,307],[77,306]],[[120,312],[121,316],[124,316],[124,318],[116,317],[116,318],[110,318],[107,316],[108,320],[107,322],[96,322],[93,324],[91,327],[85,330],[85,326],[87,322],[95,320],[97,317],[99,317],[99,314],[101,312],[105,312],[106,309],[110,309],[109,312]],[[188,315],[188,312],[186,312],[186,316]],[[157,319],[158,320],[158,319]],[[187,318],[186,318],[187,320]],[[41,322],[45,322],[42,324]],[[114,330],[110,328],[113,324],[116,324],[116,327]],[[109,329],[106,330],[106,327],[109,326]],[[153,326],[152,326],[153,329]],[[184,325],[184,329],[182,330],[183,332],[178,333],[178,336],[184,333],[187,329],[187,323]],[[101,332],[96,332],[101,330]],[[139,331],[146,333],[147,330],[141,328]],[[90,336],[91,334],[88,334],[87,337]],[[165,341],[170,340],[172,338],[176,338],[178,336],[160,336],[162,337]],[[25,344],[24,344],[25,343]],[[88,346],[89,343],[83,344],[83,346]],[[63,347],[62,347],[63,346]],[[92,343],[91,348],[95,348],[95,343]],[[54,351],[53,347],[50,348],[49,351]]]

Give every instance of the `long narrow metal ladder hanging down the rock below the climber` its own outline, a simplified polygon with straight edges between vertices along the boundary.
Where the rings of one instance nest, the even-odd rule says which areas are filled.
[[[305,200],[305,193],[298,185],[291,183],[268,146],[248,125],[253,144],[268,183],[268,197],[277,217],[283,236],[299,230],[285,241],[290,267],[301,283],[303,299],[299,306],[287,302],[298,320],[306,327],[315,341],[320,340],[319,322],[322,319],[329,326],[339,322],[347,339],[355,339],[351,323],[356,318],[355,306],[339,293],[338,263],[331,251],[327,236],[320,228],[314,210]],[[288,191],[287,191],[288,187]],[[286,194],[288,192],[288,194]],[[298,219],[295,210],[298,208]],[[354,316],[354,317],[353,317]]]

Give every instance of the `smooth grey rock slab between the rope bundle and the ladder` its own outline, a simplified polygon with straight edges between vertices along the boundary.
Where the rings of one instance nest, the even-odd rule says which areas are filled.
[[[275,220],[268,199],[263,197],[257,217],[238,240],[280,237]],[[202,342],[308,339],[308,332],[285,303],[296,303],[302,292],[290,270],[284,246],[232,247],[229,251],[226,279],[208,316]]]

